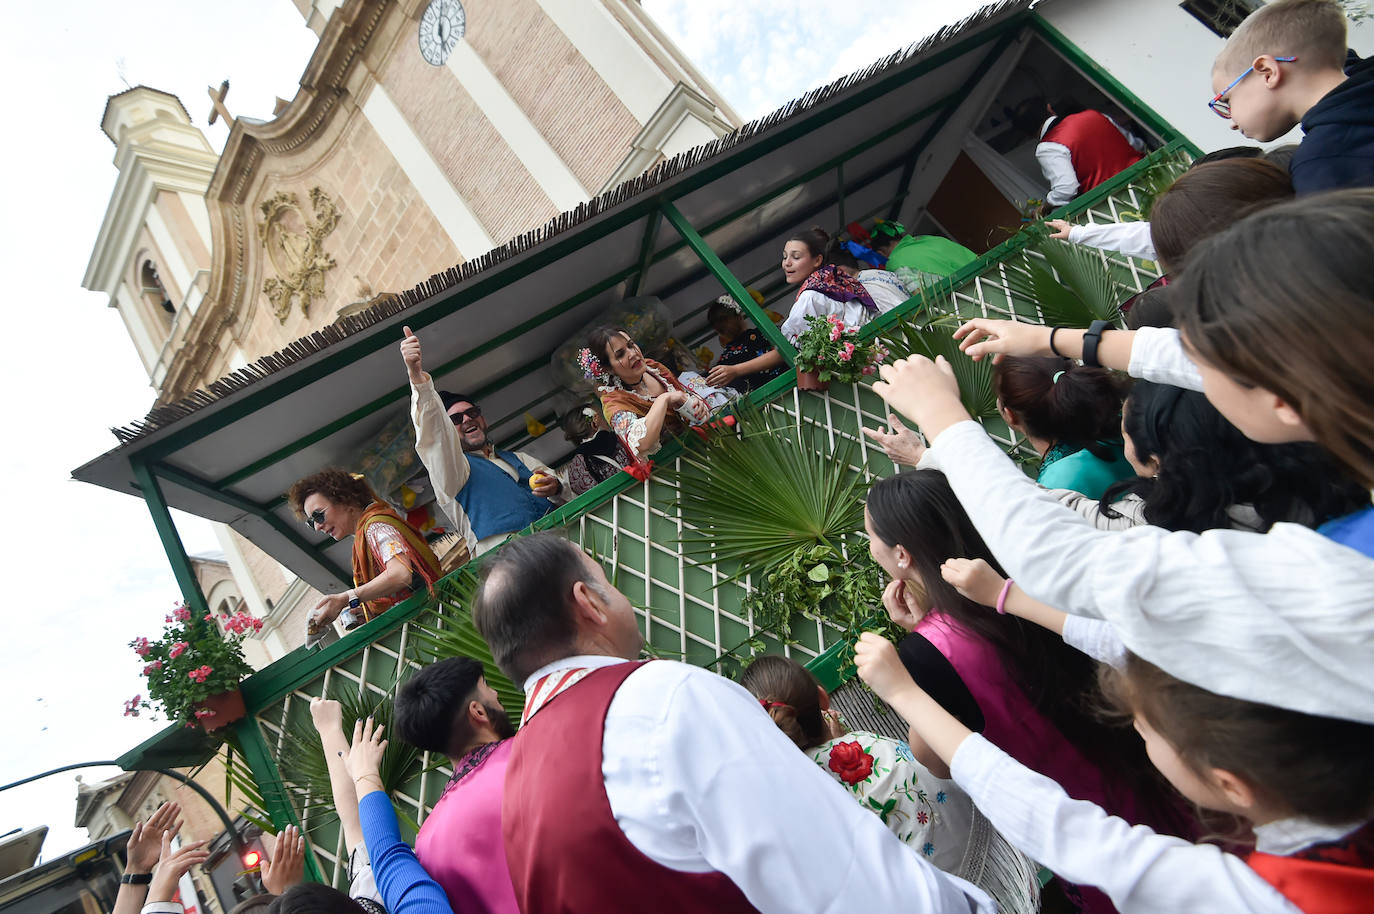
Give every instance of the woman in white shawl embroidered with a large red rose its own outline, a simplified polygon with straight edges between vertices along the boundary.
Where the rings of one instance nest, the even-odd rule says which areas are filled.
[[[1036,866],[978,815],[963,789],[937,778],[900,739],[848,730],[830,694],[790,657],[756,657],[739,684],[778,728],[853,794],[882,815],[914,852],[988,892],[999,911],[1040,910]]]

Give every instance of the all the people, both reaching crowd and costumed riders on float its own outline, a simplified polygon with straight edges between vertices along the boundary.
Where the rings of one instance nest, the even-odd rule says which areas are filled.
[[[960,357],[995,361],[1036,478],[969,416],[944,359],[879,370],[892,414],[864,432],[899,471],[870,487],[864,529],[907,634],[861,635],[855,662],[907,741],[851,730],[785,657],[756,658],[739,683],[640,660],[635,609],[596,561],[555,533],[515,537],[484,561],[473,620],[523,689],[521,719],[473,658],[401,683],[393,735],[453,770],[411,851],[378,777],[381,728],[357,722],[350,741],[338,705],[316,700],[350,892],[293,887],[304,851],[287,829],[264,866],[272,895],[245,904],[982,914],[1036,910],[1043,866],[1091,913],[1370,910],[1370,73],[1347,56],[1338,4],[1265,4],[1216,59],[1209,106],[1261,142],[1301,122],[1287,166],[1228,150],[1143,230],[1051,225],[1167,271],[1132,302],[1136,328],[956,331]],[[1095,113],[1029,114],[1041,146],[1095,137],[1103,161],[1132,148]],[[1065,169],[1081,188],[1101,165],[1062,158],[1041,161],[1065,188]],[[785,334],[881,313],[903,283],[890,258],[922,245],[878,230],[888,269],[818,231],[787,242]],[[960,268],[929,247],[905,268]],[[717,305],[728,360],[686,381],[627,330],[591,331],[599,403],[565,418],[577,451],[562,474],[496,449],[471,397],[434,389],[407,330],[418,449],[470,554],[706,425],[719,389],[782,370],[732,300]],[[423,537],[365,482],[327,470],[290,499],[312,528],[354,536],[357,587],[322,601],[320,620],[365,621],[434,583]],[[170,892],[203,851],[170,848],[176,815],[135,829],[118,914],[180,910]]]

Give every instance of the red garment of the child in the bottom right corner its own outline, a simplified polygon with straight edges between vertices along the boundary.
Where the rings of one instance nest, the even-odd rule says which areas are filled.
[[[1374,826],[1366,825],[1333,844],[1293,854],[1250,854],[1264,881],[1305,914],[1362,914],[1374,899]]]

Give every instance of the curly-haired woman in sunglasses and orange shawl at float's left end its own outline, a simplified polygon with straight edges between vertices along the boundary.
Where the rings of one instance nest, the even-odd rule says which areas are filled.
[[[312,634],[345,609],[352,614],[345,628],[356,628],[422,587],[433,591],[442,573],[433,550],[361,477],[330,467],[300,480],[286,498],[312,531],[353,537],[353,588],[326,594],[315,605]]]

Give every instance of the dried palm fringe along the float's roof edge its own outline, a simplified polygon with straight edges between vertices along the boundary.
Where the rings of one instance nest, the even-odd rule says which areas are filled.
[[[511,241],[499,247],[493,247],[481,257],[464,261],[458,267],[451,267],[444,272],[434,274],[420,285],[415,286],[415,289],[400,293],[387,301],[368,308],[367,311],[342,317],[328,327],[317,330],[306,337],[301,337],[287,348],[269,356],[262,356],[251,366],[220,378],[218,381],[210,383],[205,390],[194,390],[176,403],[154,407],[142,421],[131,422],[122,427],[110,429],[110,432],[113,432],[114,437],[120,441],[120,447],[124,447],[137,441],[143,436],[165,429],[166,426],[228,397],[229,394],[238,393],[239,390],[243,390],[264,378],[276,374],[278,371],[289,368],[309,356],[328,349],[334,344],[342,342],[344,339],[353,337],[368,327],[379,324],[403,311],[447,293],[455,286],[467,282],[469,279],[496,267],[500,263],[518,257],[556,238],[558,235],[562,235],[563,232],[576,228],[577,225],[581,225],[583,223],[600,216],[616,206],[620,206],[633,197],[639,197],[649,190],[657,188],[664,181],[677,177],[679,175],[697,168],[702,162],[706,162],[727,150],[767,133],[790,118],[831,102],[837,96],[857,88],[868,80],[882,76],[893,67],[908,63],[912,58],[921,56],[926,52],[938,51],[941,45],[960,36],[970,27],[982,25],[984,22],[998,18],[1009,11],[1025,10],[1030,5],[1030,3],[1032,0],[999,0],[998,3],[989,3],[955,25],[945,26],[934,34],[930,34],[907,48],[903,48],[901,51],[896,51],[875,63],[871,63],[863,70],[851,73],[846,77],[835,80],[830,85],[812,89],[801,98],[793,99],[772,114],[750,121],[739,129],[717,137],[710,143],[679,153],[673,158],[664,159],[639,177],[624,181],[622,184],[610,188],[585,203],[578,203],[574,209],[555,216],[544,225],[532,228],[522,235],[517,235]]]

